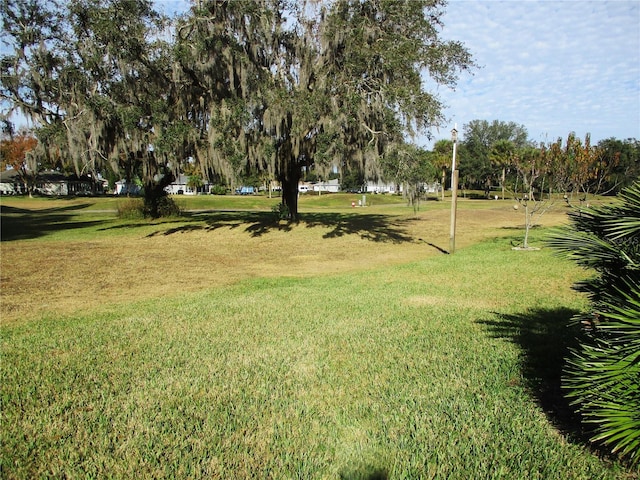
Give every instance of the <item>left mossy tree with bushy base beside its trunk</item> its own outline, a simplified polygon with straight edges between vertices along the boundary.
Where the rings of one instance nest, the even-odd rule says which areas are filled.
[[[0,0],[0,94],[36,125],[36,154],[77,174],[140,166],[147,213],[174,179],[171,63],[150,0]]]

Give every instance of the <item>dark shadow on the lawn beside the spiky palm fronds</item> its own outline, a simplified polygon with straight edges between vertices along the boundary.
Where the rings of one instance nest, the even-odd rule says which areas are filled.
[[[587,444],[580,416],[561,387],[565,358],[577,347],[579,326],[568,308],[538,308],[521,314],[497,313],[495,320],[479,320],[490,335],[512,341],[522,348],[522,376],[526,387],[550,422],[568,437]]]

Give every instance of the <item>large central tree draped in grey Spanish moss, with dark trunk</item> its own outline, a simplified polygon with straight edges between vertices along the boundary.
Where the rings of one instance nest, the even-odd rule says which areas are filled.
[[[205,2],[178,26],[200,161],[232,177],[273,172],[291,218],[305,169],[365,177],[405,133],[442,123],[421,73],[455,85],[473,62],[440,36],[440,1]],[[285,21],[287,18],[287,21]],[[187,98],[187,96],[189,98]],[[234,160],[235,159],[235,160]]]

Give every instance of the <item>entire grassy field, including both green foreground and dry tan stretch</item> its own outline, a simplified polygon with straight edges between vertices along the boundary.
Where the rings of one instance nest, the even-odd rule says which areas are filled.
[[[559,391],[586,273],[510,202],[446,255],[448,202],[371,200],[2,199],[0,476],[637,478]]]

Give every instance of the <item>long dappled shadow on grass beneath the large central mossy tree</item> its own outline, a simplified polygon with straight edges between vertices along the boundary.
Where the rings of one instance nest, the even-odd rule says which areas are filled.
[[[158,230],[149,236],[174,235],[196,230],[215,231],[221,228],[240,228],[252,237],[260,237],[273,231],[290,231],[296,225],[307,228],[324,227],[328,231],[323,238],[339,238],[357,235],[372,242],[409,243],[422,241],[407,233],[410,219],[398,219],[385,215],[306,213],[296,223],[278,221],[272,212],[224,211],[192,213],[185,221],[193,222],[167,230]],[[427,242],[425,242],[427,243]],[[428,243],[427,243],[428,244]],[[428,244],[434,248],[432,244]]]

